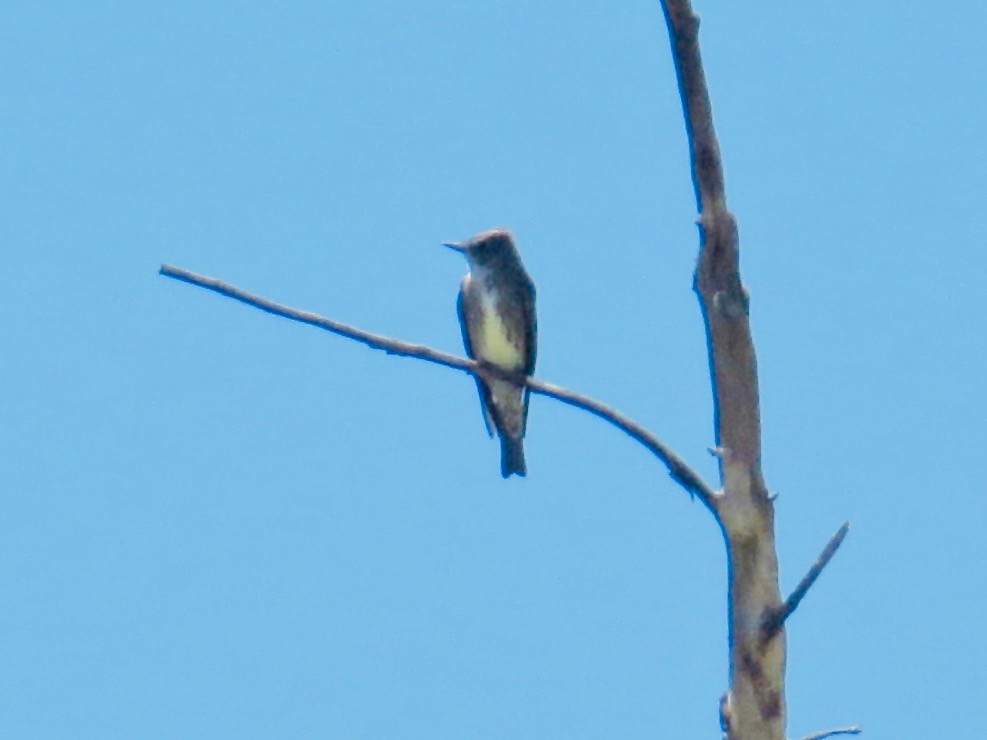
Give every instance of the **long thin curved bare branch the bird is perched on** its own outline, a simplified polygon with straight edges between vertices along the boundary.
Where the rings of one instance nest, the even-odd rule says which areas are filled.
[[[372,334],[371,332],[357,329],[349,324],[344,324],[341,321],[327,319],[324,316],[319,316],[318,314],[310,311],[300,311],[289,306],[284,306],[280,303],[275,303],[274,301],[262,298],[253,293],[248,293],[247,291],[223,282],[222,280],[198,275],[181,267],[162,265],[159,272],[165,277],[181,280],[182,282],[189,283],[191,285],[197,285],[200,288],[206,288],[207,290],[224,295],[227,298],[233,298],[241,303],[246,303],[247,305],[259,308],[267,313],[274,314],[275,316],[282,316],[286,319],[291,319],[292,321],[299,321],[303,324],[315,326],[319,329],[325,329],[326,331],[339,334],[340,336],[347,337],[348,339],[356,340],[357,342],[367,345],[371,349],[380,349],[388,354],[400,355],[402,357],[414,357],[420,360],[425,360],[426,362],[435,363],[436,365],[443,365],[455,370],[462,370],[470,373],[471,375],[492,373],[494,375],[499,375],[515,380],[519,383],[523,383],[531,388],[534,393],[549,396],[551,398],[555,398],[556,400],[562,401],[563,403],[567,403],[570,406],[575,406],[576,408],[581,408],[584,411],[589,411],[591,414],[595,414],[601,419],[610,422],[613,426],[617,427],[628,436],[644,445],[655,457],[665,464],[668,468],[669,474],[677,483],[689,491],[690,494],[698,496],[699,500],[702,501],[714,515],[716,515],[716,506],[719,494],[710,488],[710,486],[699,476],[698,473],[696,473],[696,471],[689,467],[689,465],[686,464],[681,457],[675,454],[675,452],[673,452],[667,445],[665,445],[660,439],[658,439],[643,426],[620,413],[616,409],[601,403],[600,401],[574,391],[567,390],[561,386],[546,383],[545,381],[538,380],[536,378],[507,373],[496,367],[483,365],[475,362],[474,360],[466,359],[465,357],[457,357],[456,355],[451,355],[446,352],[440,352],[439,350],[432,349],[431,347],[427,347],[422,344],[411,344],[409,342],[403,342],[400,339],[386,337],[382,334]]]

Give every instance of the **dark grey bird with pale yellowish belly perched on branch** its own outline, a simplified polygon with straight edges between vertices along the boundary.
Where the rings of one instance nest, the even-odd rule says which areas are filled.
[[[466,354],[525,375],[535,371],[538,327],[535,284],[521,264],[514,237],[491,229],[458,244],[470,271],[459,287],[459,323]],[[487,432],[500,437],[500,473],[524,475],[524,429],[529,389],[502,378],[476,376]],[[491,422],[493,427],[491,427]]]

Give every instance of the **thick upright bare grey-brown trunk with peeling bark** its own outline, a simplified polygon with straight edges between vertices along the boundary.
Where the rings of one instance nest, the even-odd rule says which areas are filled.
[[[685,114],[701,231],[694,287],[706,325],[723,497],[719,523],[730,570],[731,740],[785,737],[785,634],[762,639],[778,608],[774,510],[761,475],[757,360],[740,279],[737,222],[727,209],[723,165],[689,0],[662,0]]]

